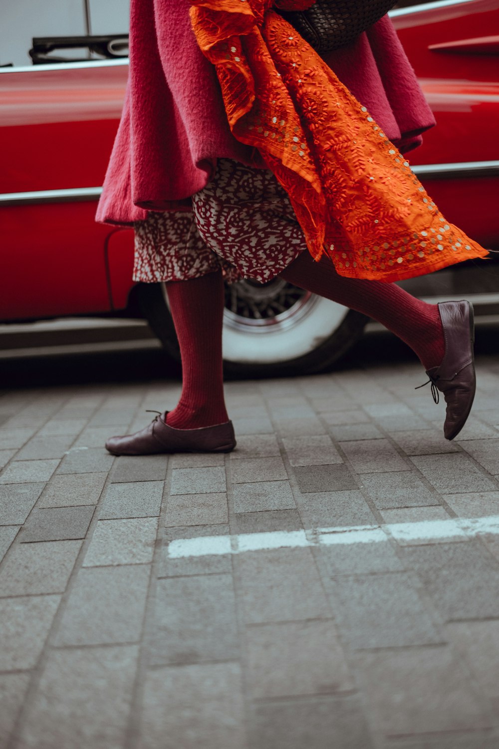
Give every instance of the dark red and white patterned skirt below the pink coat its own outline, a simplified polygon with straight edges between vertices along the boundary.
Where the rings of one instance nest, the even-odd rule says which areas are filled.
[[[272,172],[219,159],[192,211],[135,222],[134,281],[185,281],[221,267],[227,282],[266,282],[307,249],[287,192]]]

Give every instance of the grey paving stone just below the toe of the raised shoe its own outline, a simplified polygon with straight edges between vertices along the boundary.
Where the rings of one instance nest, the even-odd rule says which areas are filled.
[[[468,444],[468,443],[467,443]],[[495,491],[497,486],[462,453],[456,455],[420,455],[411,458],[423,476],[441,494],[470,491]]]

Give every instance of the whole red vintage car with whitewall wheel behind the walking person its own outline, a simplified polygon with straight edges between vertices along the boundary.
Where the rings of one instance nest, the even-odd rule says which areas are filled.
[[[391,16],[438,121],[411,154],[414,172],[450,221],[499,249],[499,0]],[[141,314],[175,354],[162,284],[132,283],[132,230],[94,222],[127,72],[126,58],[0,68],[0,321]],[[402,285],[499,312],[493,261]],[[281,279],[227,287],[226,308],[224,359],[248,375],[318,372],[367,320]]]

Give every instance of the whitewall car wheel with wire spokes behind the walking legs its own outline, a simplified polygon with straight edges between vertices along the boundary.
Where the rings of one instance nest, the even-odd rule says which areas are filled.
[[[165,285],[140,284],[144,317],[168,353],[180,360]],[[225,287],[224,370],[232,377],[322,372],[361,337],[368,318],[276,278]]]

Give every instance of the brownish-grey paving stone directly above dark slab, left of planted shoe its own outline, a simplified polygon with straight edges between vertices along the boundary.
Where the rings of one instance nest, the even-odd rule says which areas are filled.
[[[52,477],[37,508],[97,505],[107,473],[63,473]]]

